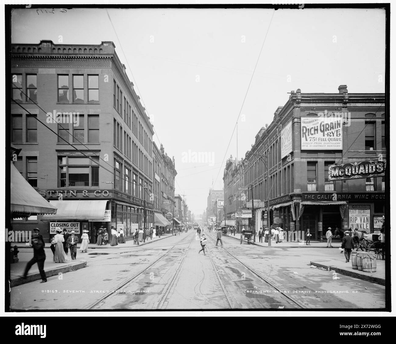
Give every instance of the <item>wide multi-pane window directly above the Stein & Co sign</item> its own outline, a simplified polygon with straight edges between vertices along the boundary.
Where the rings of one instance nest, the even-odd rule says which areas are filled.
[[[59,156],[59,187],[99,186],[99,157]]]

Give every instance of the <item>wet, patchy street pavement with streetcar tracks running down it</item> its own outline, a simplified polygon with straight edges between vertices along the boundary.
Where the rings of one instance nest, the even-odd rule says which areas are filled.
[[[310,267],[339,255],[320,247],[240,244],[195,232],[147,245],[88,250],[84,269],[11,288],[14,310],[382,309],[385,286]],[[282,291],[283,293],[280,293]]]

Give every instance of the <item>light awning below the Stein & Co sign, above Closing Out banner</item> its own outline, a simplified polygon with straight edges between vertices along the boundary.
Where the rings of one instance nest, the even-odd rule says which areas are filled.
[[[50,201],[58,208],[56,215],[44,215],[42,220],[105,221],[107,200]]]

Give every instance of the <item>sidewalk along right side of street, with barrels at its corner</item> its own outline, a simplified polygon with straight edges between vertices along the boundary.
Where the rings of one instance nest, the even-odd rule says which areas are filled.
[[[228,237],[232,237],[240,241],[240,234],[228,235]],[[259,240],[259,237],[256,237],[256,240]],[[278,242],[271,240],[271,246],[268,246],[268,242],[255,242],[253,245],[262,246],[265,248],[326,248],[326,242],[319,241],[311,241],[310,245],[306,245],[304,242]],[[247,240],[242,239],[242,244],[247,244]],[[377,259],[377,271],[375,273],[366,273],[360,270],[352,269],[352,260],[349,263],[345,263],[344,254],[341,254],[339,248],[341,247],[340,242],[333,242],[333,248],[327,248],[327,251],[324,251],[323,254],[325,257],[321,257],[321,260],[312,259],[310,261],[310,265],[314,265],[316,267],[320,267],[322,269],[326,269],[328,271],[335,271],[336,273],[344,274],[347,276],[351,276],[354,278],[359,278],[361,280],[366,280],[369,282],[385,285],[385,260]],[[322,252],[322,250],[321,250]],[[327,252],[328,257],[327,257]],[[341,257],[341,260],[337,256],[337,254]],[[323,259],[324,258],[324,259]]]

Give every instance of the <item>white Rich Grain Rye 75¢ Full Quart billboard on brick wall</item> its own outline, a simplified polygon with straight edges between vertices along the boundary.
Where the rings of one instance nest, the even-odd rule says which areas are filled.
[[[302,150],[342,150],[343,119],[301,117]]]

